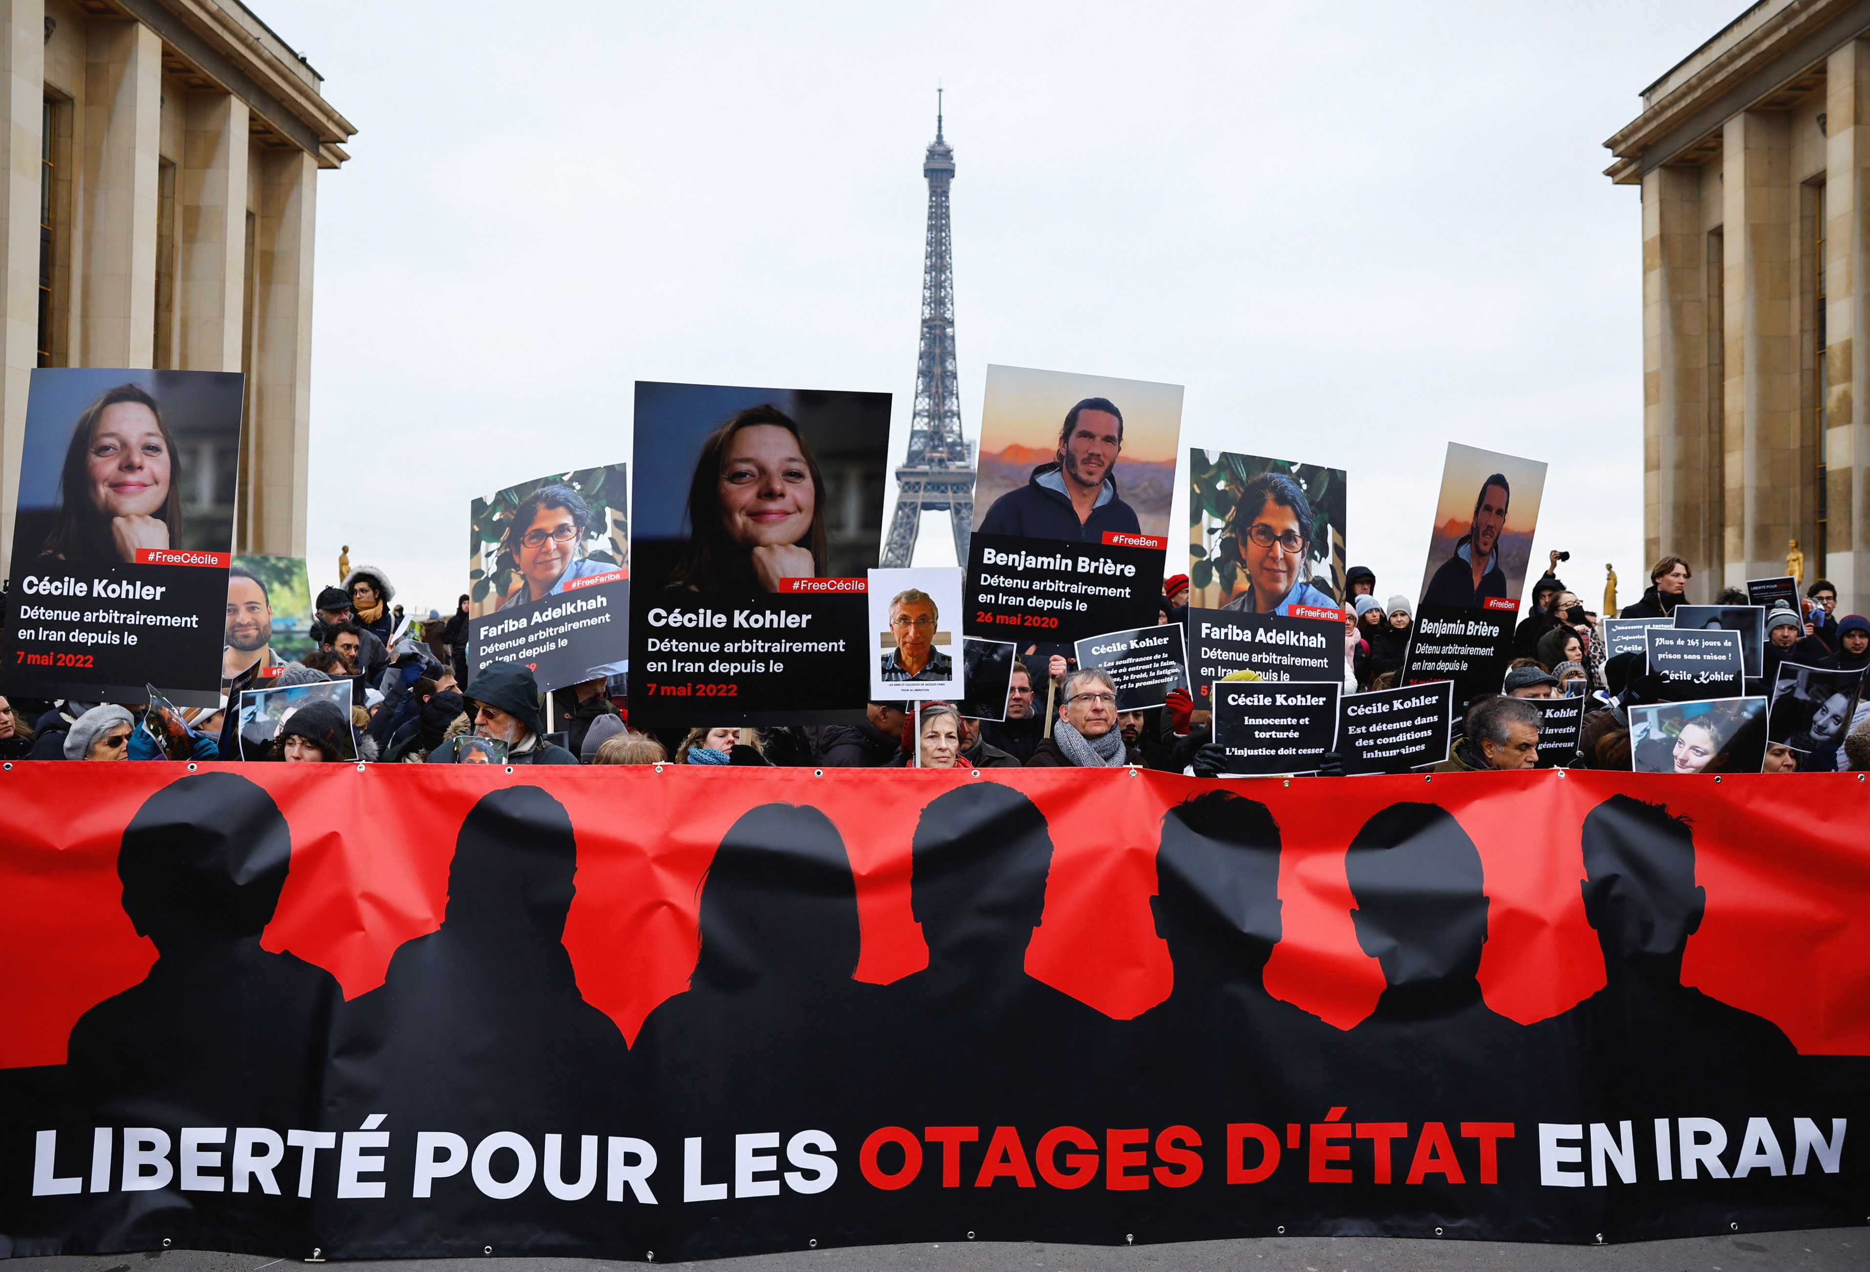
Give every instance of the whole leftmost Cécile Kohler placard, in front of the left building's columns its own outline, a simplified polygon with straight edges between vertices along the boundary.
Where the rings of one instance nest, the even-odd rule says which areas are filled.
[[[32,372],[0,689],[221,702],[237,372]]]

